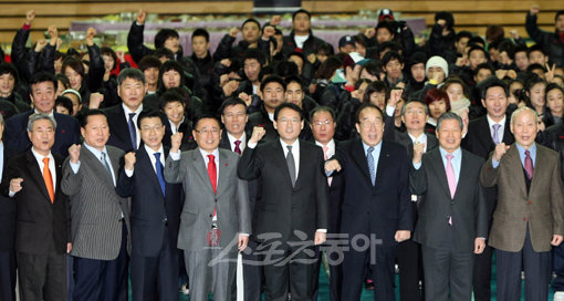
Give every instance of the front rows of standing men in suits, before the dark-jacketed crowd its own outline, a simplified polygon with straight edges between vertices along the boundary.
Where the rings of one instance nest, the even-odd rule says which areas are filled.
[[[480,259],[487,243],[498,250],[498,299],[519,299],[523,262],[528,300],[546,300],[551,246],[564,235],[561,163],[534,142],[532,110],[506,117],[502,83],[485,85],[488,115],[470,123],[468,133],[458,115],[446,113],[437,138],[424,132],[428,113],[420,102],[404,105],[407,133],[393,135],[385,135],[394,131],[387,113],[361,106],[358,137],[344,143],[333,139],[334,112],[316,107],[310,127],[321,147],[300,138],[305,123],[299,106],[275,107],[263,121],[275,133],[264,142],[269,127],[257,124],[246,134],[246,104],[228,98],[220,111],[224,131],[215,115],[201,115],[191,133],[198,147],[180,154],[182,133],[170,137],[169,149],[163,144],[166,118],[143,111],[143,73],[124,70],[117,81],[123,105],[86,112],[82,144],[77,122],[53,112],[51,75],[40,73],[31,84],[34,110],[8,121],[3,157],[17,155],[2,160],[0,191],[12,212],[2,222],[15,233],[15,256],[0,257],[3,299],[13,300],[17,262],[22,300],[64,300],[70,252],[73,300],[126,300],[128,255],[134,300],[175,300],[179,248],[194,300],[207,300],[209,292],[231,299],[238,251],[248,259],[248,300],[260,295],[261,273],[267,300],[289,293],[312,300],[315,246],[338,233],[351,246],[332,264],[334,300],[358,300],[367,273],[375,298],[394,300],[396,257],[403,293],[411,288],[419,295],[419,248],[426,298],[447,300],[450,291],[451,299],[470,300],[478,262],[491,261],[491,251]],[[279,85],[268,77],[261,90]],[[113,135],[118,131],[126,135]],[[112,136],[132,148],[112,146]],[[483,146],[483,156],[462,144]],[[484,187],[493,186],[491,197]]]

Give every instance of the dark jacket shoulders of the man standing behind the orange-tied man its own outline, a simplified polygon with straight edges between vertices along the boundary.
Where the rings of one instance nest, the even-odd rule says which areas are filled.
[[[6,122],[4,143],[14,154],[21,154],[31,146],[28,137],[28,121],[33,113],[33,110],[20,113]],[[81,127],[74,117],[56,112],[53,113],[53,116],[56,121],[56,133],[51,153],[66,157],[69,147],[81,143]]]

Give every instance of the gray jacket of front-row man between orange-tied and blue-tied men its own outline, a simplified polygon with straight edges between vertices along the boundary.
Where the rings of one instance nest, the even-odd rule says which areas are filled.
[[[119,160],[125,153],[113,146],[106,146],[106,149],[117,177]],[[66,158],[61,183],[63,193],[71,197],[71,255],[114,260],[122,243],[122,212],[127,229],[130,228],[129,199],[117,195],[108,173],[84,144],[81,147],[80,162],[79,173],[74,174],[70,158]],[[127,249],[129,250],[129,247]]]

